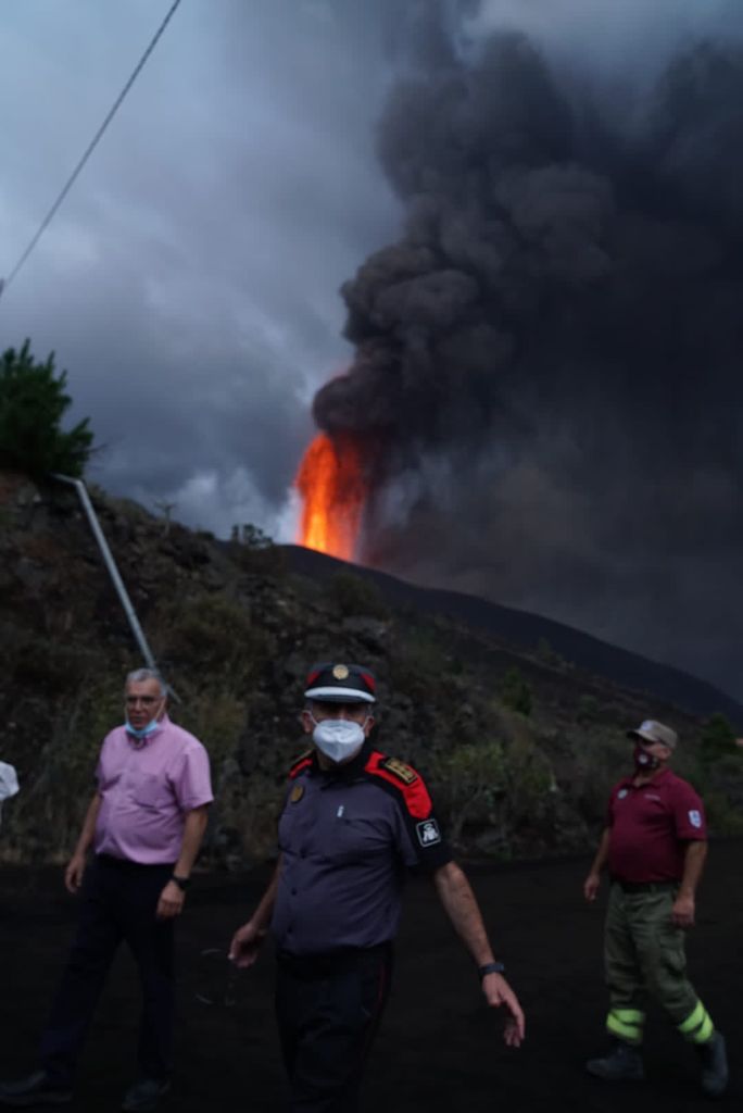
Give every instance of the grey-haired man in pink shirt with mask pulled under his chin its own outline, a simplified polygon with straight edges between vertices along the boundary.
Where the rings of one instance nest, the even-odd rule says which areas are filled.
[[[80,922],[41,1038],[40,1070],[0,1083],[6,1105],[70,1101],[78,1054],[122,939],[139,966],[143,996],[140,1077],[122,1109],[152,1110],[169,1089],[174,924],[212,799],[209,759],[168,719],[167,689],[151,669],[127,677],[125,707],[125,725],[103,741],[97,791],[65,871],[68,890],[81,894]]]

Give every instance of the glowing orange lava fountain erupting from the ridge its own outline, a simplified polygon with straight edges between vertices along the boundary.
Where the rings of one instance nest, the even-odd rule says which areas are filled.
[[[353,560],[366,499],[361,454],[349,437],[318,433],[295,480],[303,499],[297,543]]]

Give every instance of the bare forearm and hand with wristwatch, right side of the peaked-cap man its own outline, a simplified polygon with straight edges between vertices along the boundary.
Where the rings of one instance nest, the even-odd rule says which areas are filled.
[[[454,861],[442,866],[434,874],[434,885],[454,928],[475,959],[477,966],[493,962],[493,951],[487,938],[483,916],[472,886]],[[511,1014],[506,1022],[505,1041],[517,1047],[524,1038],[524,1013],[516,994],[501,974],[486,974],[483,993],[488,1005],[505,1005]]]

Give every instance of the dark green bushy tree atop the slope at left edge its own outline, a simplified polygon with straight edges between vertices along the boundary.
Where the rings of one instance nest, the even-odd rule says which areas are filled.
[[[61,420],[72,400],[67,372],[55,374],[55,354],[37,363],[30,341],[8,348],[0,361],[0,466],[43,479],[49,472],[82,475],[92,451],[88,417],[71,430]]]

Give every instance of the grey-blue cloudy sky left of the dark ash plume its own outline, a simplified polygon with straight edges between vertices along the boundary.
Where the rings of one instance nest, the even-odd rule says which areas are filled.
[[[6,0],[0,274],[169,0]],[[337,289],[395,234],[374,124],[385,21],[323,0],[184,0],[0,302],[2,348],[65,367],[91,479],[225,534],[291,538],[309,402],[348,359]]]

